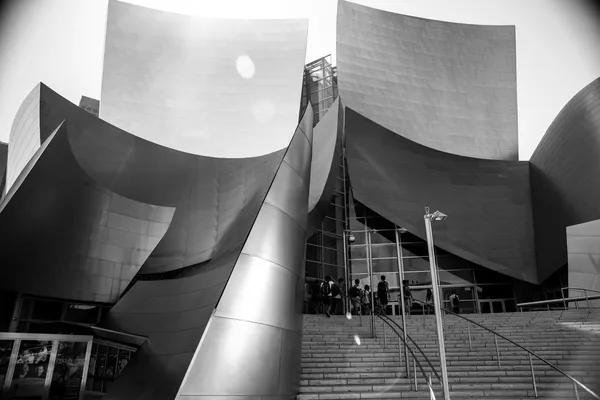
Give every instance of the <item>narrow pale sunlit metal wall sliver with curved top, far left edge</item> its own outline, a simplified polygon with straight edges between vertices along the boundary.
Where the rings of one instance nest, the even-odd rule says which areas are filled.
[[[23,100],[10,129],[5,192],[17,180],[25,165],[42,144],[40,140],[40,87],[41,84],[36,85]],[[50,132],[57,126],[58,124],[55,124],[50,128]]]

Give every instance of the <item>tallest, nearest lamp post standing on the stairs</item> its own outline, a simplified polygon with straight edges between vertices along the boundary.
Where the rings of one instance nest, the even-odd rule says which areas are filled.
[[[425,231],[427,233],[427,250],[429,253],[429,269],[431,272],[431,286],[433,291],[433,306],[435,310],[435,324],[437,326],[438,344],[440,347],[440,364],[442,366],[442,385],[444,386],[444,399],[450,400],[450,389],[448,386],[448,367],[446,365],[446,348],[444,344],[444,327],[442,323],[442,305],[440,301],[440,289],[438,283],[437,265],[435,261],[435,250],[433,246],[432,221],[443,221],[447,215],[436,211],[429,213],[429,207],[425,207]]]

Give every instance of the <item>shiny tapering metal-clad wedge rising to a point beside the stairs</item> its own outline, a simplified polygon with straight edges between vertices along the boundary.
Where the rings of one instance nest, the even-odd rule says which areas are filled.
[[[297,394],[306,241],[306,226],[297,219],[304,215],[306,220],[308,214],[311,114],[312,108],[308,107],[198,346],[178,399]],[[282,180],[288,182],[277,183]],[[298,200],[299,196],[303,201]],[[257,290],[259,286],[273,290]]]

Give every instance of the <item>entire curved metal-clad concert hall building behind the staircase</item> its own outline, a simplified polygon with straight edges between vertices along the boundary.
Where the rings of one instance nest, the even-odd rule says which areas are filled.
[[[336,69],[306,21],[108,7],[99,117],[40,83],[0,144],[2,398],[295,399],[315,282],[425,298],[424,207],[462,312],[597,285],[600,80],[517,161],[514,27],[340,1]]]

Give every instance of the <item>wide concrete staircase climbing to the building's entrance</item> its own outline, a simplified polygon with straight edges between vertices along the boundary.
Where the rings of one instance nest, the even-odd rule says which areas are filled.
[[[536,352],[553,365],[600,393],[600,310],[544,311],[510,314],[474,314],[472,320]],[[399,317],[392,317],[401,326]],[[298,400],[320,399],[429,399],[425,378],[417,369],[414,387],[411,361],[409,378],[398,351],[398,338],[376,318],[377,338],[371,338],[369,317],[305,315],[302,339],[302,378]],[[526,352],[498,338],[500,366],[494,336],[474,325],[471,348],[466,321],[445,317],[446,358],[451,398],[529,399],[534,397]],[[409,335],[440,373],[435,319],[410,316]],[[426,374],[431,368],[422,355],[417,360]],[[533,358],[539,398],[576,399],[572,382]],[[441,385],[432,376],[436,399]],[[591,399],[582,389],[580,399]]]

